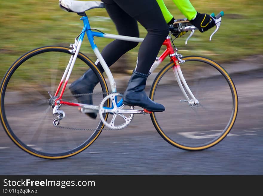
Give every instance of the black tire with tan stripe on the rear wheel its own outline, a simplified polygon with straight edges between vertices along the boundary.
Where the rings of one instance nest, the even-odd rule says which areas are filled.
[[[5,95],[5,90],[7,87],[7,84],[11,78],[11,76],[13,75],[13,73],[15,72],[15,70],[23,63],[25,62],[27,59],[41,54],[41,53],[46,53],[46,52],[64,52],[64,53],[68,53],[71,54],[68,50],[71,50],[71,48],[68,47],[64,47],[64,46],[44,46],[44,47],[39,47],[36,49],[33,49],[27,53],[25,53],[24,55],[22,55],[21,57],[19,57],[11,66],[10,68],[7,70],[7,72],[5,73],[2,81],[1,81],[1,86],[0,86],[0,120],[1,120],[1,124],[5,130],[5,132],[7,133],[7,135],[9,136],[9,138],[17,145],[19,146],[19,148],[21,148],[22,150],[24,150],[25,152],[40,157],[40,158],[47,158],[47,159],[60,159],[60,158],[67,158],[73,155],[76,155],[80,152],[82,152],[83,150],[85,150],[86,148],[88,148],[100,135],[100,133],[102,132],[102,129],[104,128],[104,125],[100,122],[99,124],[99,129],[100,130],[96,130],[94,131],[94,133],[88,138],[88,140],[86,140],[84,143],[82,143],[80,146],[66,151],[66,152],[62,152],[62,153],[55,153],[55,154],[51,154],[51,153],[43,153],[43,152],[39,152],[36,149],[33,149],[29,146],[27,146],[26,144],[24,144],[21,140],[19,140],[19,138],[16,137],[16,135],[13,133],[12,129],[10,128],[8,122],[7,122],[7,118],[5,116],[5,110],[4,110],[4,95]],[[97,75],[97,77],[99,78],[99,82],[101,84],[101,87],[103,89],[103,92],[108,92],[108,87],[107,87],[107,83],[105,81],[105,78],[103,77],[103,74],[100,72],[100,70],[96,67],[96,65],[94,64],[94,62],[91,61],[90,58],[88,58],[86,55],[84,55],[83,53],[79,52],[77,58],[79,58],[80,60],[82,60],[84,63],[86,63],[89,67],[91,67],[91,69],[95,72],[95,74]],[[108,115],[105,116],[105,119],[107,120]]]

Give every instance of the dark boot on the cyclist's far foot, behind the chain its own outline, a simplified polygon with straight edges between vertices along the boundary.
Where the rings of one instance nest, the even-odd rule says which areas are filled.
[[[72,82],[69,89],[73,95],[92,93],[94,87],[99,83],[97,75],[92,69],[86,71],[79,79]],[[81,104],[93,105],[92,95],[76,96],[77,100]],[[97,118],[97,113],[86,113],[91,118]]]

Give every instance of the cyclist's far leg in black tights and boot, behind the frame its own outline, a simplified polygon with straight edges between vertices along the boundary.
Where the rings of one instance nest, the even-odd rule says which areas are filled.
[[[109,16],[114,21],[120,35],[139,37],[138,24],[134,18],[129,16],[114,2],[109,2],[108,4],[105,3],[105,7]],[[137,45],[137,42],[114,40],[103,49],[101,54],[107,65],[110,67],[123,54]],[[97,64],[97,67],[101,72],[104,72],[100,62]],[[69,89],[72,94],[92,93],[98,82],[99,80],[93,70],[89,69],[79,79],[71,83]],[[92,95],[84,95],[76,98],[79,103],[93,104]],[[87,113],[87,115],[91,118],[97,117],[97,113]]]

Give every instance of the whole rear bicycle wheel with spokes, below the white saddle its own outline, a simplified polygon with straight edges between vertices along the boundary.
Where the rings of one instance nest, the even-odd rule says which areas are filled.
[[[60,125],[68,129],[53,126],[48,91],[55,94],[71,57],[69,49],[47,46],[32,50],[13,63],[1,83],[1,123],[17,146],[37,157],[57,159],[76,155],[90,146],[104,127],[100,118],[91,119],[78,112],[77,107],[67,105],[60,107],[66,114]],[[107,84],[96,65],[82,53],[78,54],[68,85],[89,68],[99,80],[94,89],[97,94],[93,95],[94,105],[99,105],[108,92]],[[62,98],[77,102],[68,87]],[[81,131],[87,128],[94,130]]]

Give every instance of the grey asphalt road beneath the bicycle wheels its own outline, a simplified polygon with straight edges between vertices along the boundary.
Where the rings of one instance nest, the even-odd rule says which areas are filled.
[[[135,115],[126,129],[102,132],[78,155],[46,160],[19,149],[0,127],[0,174],[262,175],[263,70],[233,74],[232,78],[239,98],[238,117],[230,135],[209,149],[178,149],[163,140],[149,115]]]

